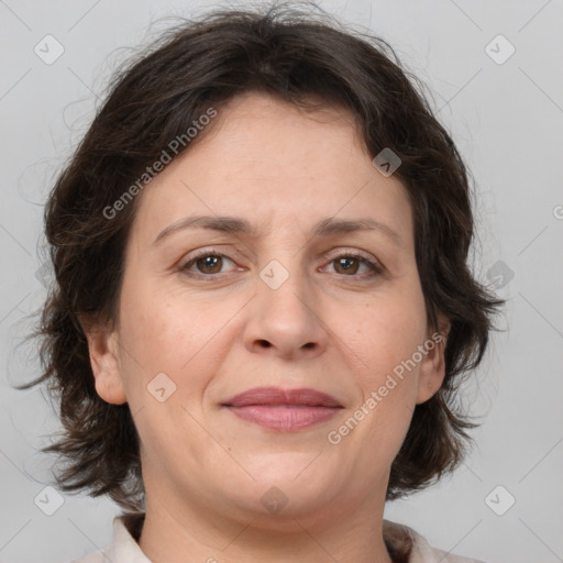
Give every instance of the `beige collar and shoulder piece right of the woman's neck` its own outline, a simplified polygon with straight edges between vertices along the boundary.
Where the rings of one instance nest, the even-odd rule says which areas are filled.
[[[406,563],[485,563],[432,548],[420,533],[401,523],[384,520],[383,534],[391,555]]]

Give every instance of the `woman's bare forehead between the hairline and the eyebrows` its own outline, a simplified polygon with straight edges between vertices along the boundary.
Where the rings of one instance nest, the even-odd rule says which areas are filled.
[[[350,111],[311,113],[262,93],[221,108],[137,205],[134,230],[153,239],[190,214],[244,217],[258,234],[305,231],[329,217],[371,217],[406,239],[412,228],[401,181],[373,166]]]

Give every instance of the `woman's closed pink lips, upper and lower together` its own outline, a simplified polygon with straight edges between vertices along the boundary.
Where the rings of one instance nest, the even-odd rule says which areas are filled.
[[[255,387],[222,404],[236,417],[264,428],[295,431],[324,422],[344,408],[316,389]]]

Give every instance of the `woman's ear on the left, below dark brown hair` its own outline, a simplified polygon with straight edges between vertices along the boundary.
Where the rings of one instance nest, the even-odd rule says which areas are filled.
[[[82,316],[80,324],[88,340],[96,393],[106,402],[123,405],[126,396],[119,369],[118,338],[112,323]]]

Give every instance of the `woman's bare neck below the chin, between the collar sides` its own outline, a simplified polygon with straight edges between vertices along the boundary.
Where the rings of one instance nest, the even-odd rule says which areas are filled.
[[[383,504],[378,511],[365,503],[350,511],[323,509],[321,517],[282,518],[150,500],[147,495],[139,544],[153,563],[393,563],[383,538]]]

